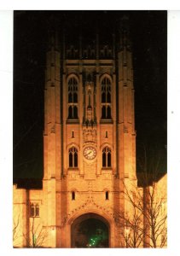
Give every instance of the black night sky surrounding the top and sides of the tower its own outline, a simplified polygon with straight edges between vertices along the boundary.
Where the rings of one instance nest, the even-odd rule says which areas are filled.
[[[15,11],[14,177],[43,177],[44,63],[52,22],[86,37],[101,27],[102,38],[130,18],[136,109],[136,158],[166,157],[166,11]],[[55,21],[53,21],[55,20]],[[165,170],[166,171],[166,170]]]

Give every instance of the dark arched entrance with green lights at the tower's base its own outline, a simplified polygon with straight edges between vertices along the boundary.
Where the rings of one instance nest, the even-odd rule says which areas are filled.
[[[109,224],[102,216],[86,213],[73,221],[71,247],[109,247]]]

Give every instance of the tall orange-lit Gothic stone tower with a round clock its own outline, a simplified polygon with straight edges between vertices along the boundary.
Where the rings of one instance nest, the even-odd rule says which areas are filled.
[[[106,227],[105,247],[123,243],[117,218],[128,206],[122,192],[136,183],[133,67],[125,19],[108,38],[104,44],[96,33],[85,44],[83,34],[68,41],[58,32],[49,39],[42,199],[44,226],[52,230],[49,247],[81,247],[89,242],[82,226],[94,224],[96,233],[98,223]]]

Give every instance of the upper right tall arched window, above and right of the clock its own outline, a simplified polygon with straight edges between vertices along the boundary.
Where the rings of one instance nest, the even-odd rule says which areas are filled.
[[[102,80],[102,119],[111,119],[111,81]]]

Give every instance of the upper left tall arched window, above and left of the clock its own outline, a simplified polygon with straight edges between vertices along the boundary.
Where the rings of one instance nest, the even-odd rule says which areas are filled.
[[[78,119],[78,81],[74,77],[68,81],[68,119]]]

